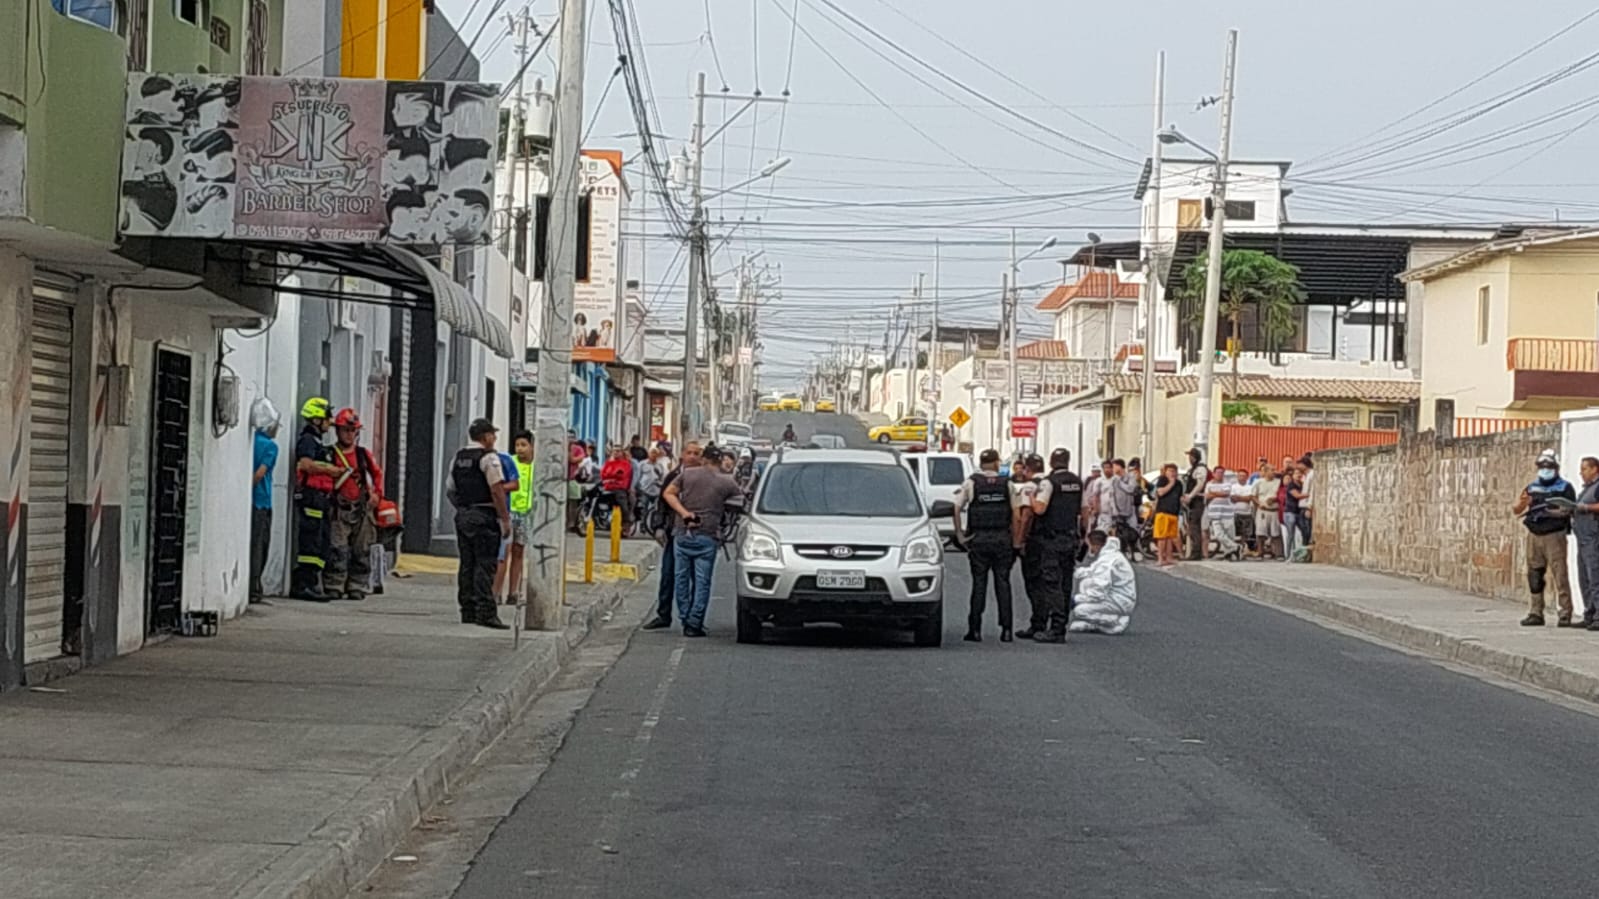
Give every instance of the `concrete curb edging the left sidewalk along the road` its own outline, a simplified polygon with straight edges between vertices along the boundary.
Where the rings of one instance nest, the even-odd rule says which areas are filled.
[[[660,547],[638,561],[649,569]],[[540,651],[508,654],[508,662],[478,685],[427,737],[397,758],[304,843],[249,878],[235,896],[249,899],[344,899],[360,888],[435,801],[516,720],[606,616],[622,606],[638,582],[603,584],[595,601],[566,611],[563,638]]]

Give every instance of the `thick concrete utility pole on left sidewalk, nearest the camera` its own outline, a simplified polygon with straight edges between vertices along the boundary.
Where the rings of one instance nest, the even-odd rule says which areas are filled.
[[[561,61],[555,78],[550,144],[550,234],[545,253],[544,333],[539,341],[539,406],[534,413],[532,547],[523,584],[528,627],[560,630],[566,587],[566,422],[572,414],[572,294],[577,286],[577,187],[582,171],[585,0],[561,0]],[[520,138],[520,136],[518,136]]]

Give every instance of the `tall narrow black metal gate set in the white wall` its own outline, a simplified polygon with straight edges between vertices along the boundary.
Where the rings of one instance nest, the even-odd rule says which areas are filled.
[[[177,629],[184,605],[184,534],[189,505],[190,360],[155,350],[155,427],[150,432],[149,632]]]

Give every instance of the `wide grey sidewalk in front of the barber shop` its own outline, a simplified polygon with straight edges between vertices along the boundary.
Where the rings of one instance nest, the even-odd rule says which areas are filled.
[[[657,547],[622,552],[648,576]],[[630,589],[569,584],[566,630],[513,651],[416,574],[0,696],[0,893],[344,897]]]

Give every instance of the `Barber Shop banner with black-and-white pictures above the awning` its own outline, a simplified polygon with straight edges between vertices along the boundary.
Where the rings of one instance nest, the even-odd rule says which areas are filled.
[[[453,245],[489,238],[499,88],[128,75],[128,237]]]

